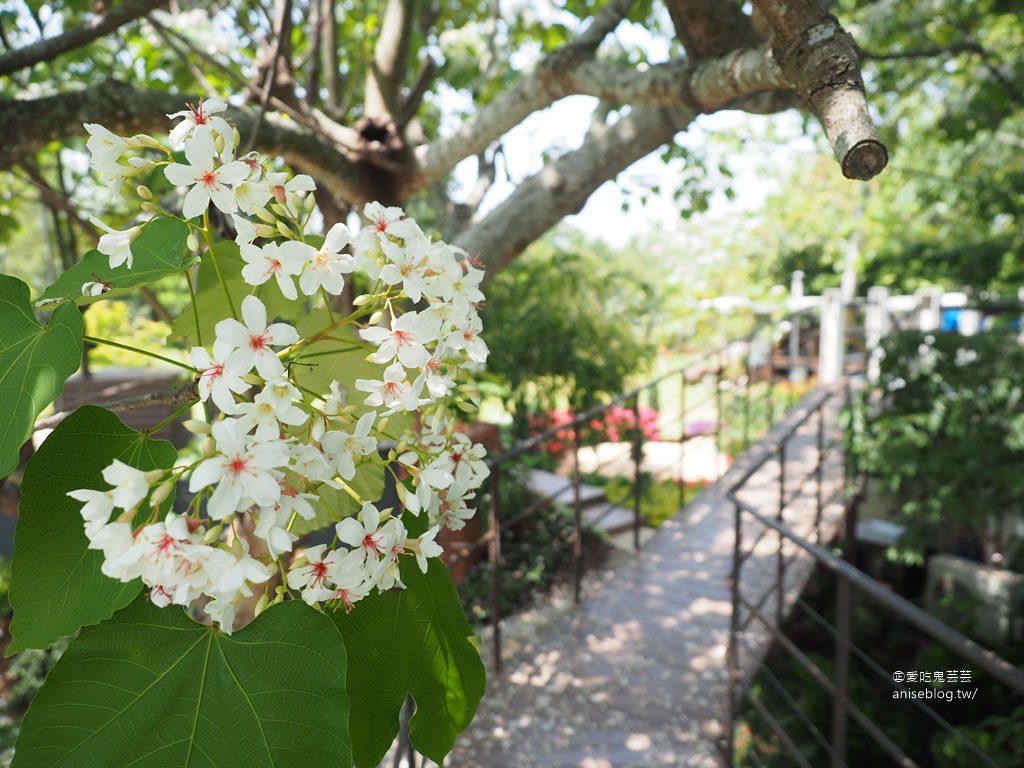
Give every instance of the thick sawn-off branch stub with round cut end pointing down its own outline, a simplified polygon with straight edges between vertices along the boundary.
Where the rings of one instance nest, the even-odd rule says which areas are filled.
[[[853,38],[819,0],[754,0],[775,31],[775,60],[807,99],[847,178],[866,181],[889,162],[867,110]]]

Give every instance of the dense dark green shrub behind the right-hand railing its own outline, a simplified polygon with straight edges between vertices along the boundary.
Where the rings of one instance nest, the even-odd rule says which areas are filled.
[[[1024,349],[997,332],[906,332],[884,346],[850,420],[855,466],[899,500],[904,558],[940,546],[977,556],[983,526],[1024,502]]]

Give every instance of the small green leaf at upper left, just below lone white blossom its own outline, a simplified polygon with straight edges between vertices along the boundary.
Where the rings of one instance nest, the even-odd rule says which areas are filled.
[[[111,269],[110,257],[99,251],[89,251],[80,262],[57,278],[56,283],[43,292],[42,298],[90,304],[123,296],[140,286],[182,272],[195,263],[195,257],[185,249],[187,239],[188,224],[183,221],[154,219],[142,227],[131,244],[130,269],[127,264]],[[110,283],[111,290],[102,296],[83,296],[82,286],[97,280]]]

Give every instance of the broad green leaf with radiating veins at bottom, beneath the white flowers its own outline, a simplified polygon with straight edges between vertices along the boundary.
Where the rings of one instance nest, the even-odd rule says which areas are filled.
[[[351,765],[345,664],[337,629],[301,601],[225,635],[139,598],[65,651],[13,768]]]

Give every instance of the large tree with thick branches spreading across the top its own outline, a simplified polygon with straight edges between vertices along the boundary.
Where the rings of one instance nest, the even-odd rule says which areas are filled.
[[[242,94],[242,147],[313,175],[328,224],[371,200],[429,199],[438,228],[492,274],[701,114],[806,109],[845,175],[870,178],[887,160],[853,41],[818,0],[165,6],[22,0],[0,13],[0,169],[16,171],[12,194],[31,184],[57,212],[66,258],[93,237],[82,212],[99,204],[53,142],[75,145],[91,122],[160,130],[211,93]],[[599,99],[582,143],[547,147],[481,206],[498,174],[519,174],[504,160],[509,131],[572,94]],[[465,161],[476,183],[455,188]]]

